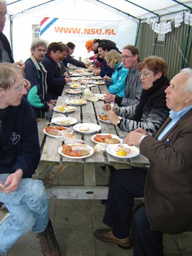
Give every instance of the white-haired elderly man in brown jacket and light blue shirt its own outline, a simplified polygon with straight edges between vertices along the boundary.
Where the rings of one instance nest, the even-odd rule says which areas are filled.
[[[125,139],[140,145],[150,169],[113,172],[103,221],[112,230],[95,232],[101,241],[129,248],[134,197],[144,196],[133,219],[134,256],[163,256],[163,233],[192,231],[192,69],[181,70],[165,92],[171,111],[159,131],[138,128]]]

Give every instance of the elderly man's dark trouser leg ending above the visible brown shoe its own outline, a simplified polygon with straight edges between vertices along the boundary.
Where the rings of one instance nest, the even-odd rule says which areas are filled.
[[[118,239],[129,236],[134,198],[143,197],[146,173],[144,169],[121,169],[111,175],[103,222]]]

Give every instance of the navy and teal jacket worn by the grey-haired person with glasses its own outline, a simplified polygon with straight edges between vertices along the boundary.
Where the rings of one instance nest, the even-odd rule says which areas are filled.
[[[47,93],[46,76],[47,71],[43,65],[31,55],[25,61],[25,78],[31,83],[27,99],[32,105],[36,117],[44,117],[45,112],[49,111],[47,102],[51,100],[51,96]]]

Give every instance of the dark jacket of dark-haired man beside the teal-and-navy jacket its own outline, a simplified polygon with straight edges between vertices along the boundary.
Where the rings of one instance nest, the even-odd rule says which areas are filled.
[[[41,62],[47,70],[47,91],[51,94],[52,99],[57,99],[63,92],[66,84],[65,78],[61,76],[61,70],[57,63],[48,54]]]

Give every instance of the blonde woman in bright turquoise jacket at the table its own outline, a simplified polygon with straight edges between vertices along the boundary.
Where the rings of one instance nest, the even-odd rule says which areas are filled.
[[[109,67],[114,68],[113,75],[111,77],[105,76],[104,81],[110,81],[111,84],[108,87],[108,91],[119,97],[125,96],[126,78],[128,75],[128,69],[122,65],[122,57],[116,50],[111,50],[105,54],[105,60]]]

